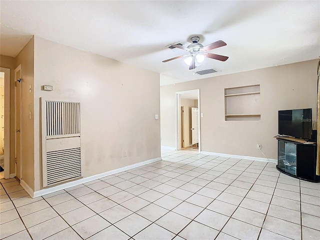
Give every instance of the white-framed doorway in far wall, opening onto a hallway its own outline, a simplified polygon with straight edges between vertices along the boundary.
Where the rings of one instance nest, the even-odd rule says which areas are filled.
[[[200,153],[200,114],[198,114],[200,112],[200,90],[176,92],[175,102],[175,148],[176,150],[197,148],[196,150]]]

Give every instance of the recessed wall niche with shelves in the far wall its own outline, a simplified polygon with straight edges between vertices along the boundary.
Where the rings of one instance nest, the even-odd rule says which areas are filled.
[[[224,88],[224,120],[260,120],[260,85]]]

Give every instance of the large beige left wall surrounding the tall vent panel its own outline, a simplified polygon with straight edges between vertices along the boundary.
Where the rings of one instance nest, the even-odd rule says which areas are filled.
[[[34,55],[35,190],[42,186],[40,97],[80,101],[84,177],[160,156],[158,73],[36,36]],[[41,91],[43,84],[53,91]]]

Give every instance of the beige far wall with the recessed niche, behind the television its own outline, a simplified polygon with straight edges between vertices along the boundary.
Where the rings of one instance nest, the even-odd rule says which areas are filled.
[[[316,118],[316,67],[310,60],[160,87],[161,145],[175,147],[174,93],[200,89],[201,150],[277,158],[277,111],[312,108]],[[225,121],[224,88],[260,84],[261,119]]]

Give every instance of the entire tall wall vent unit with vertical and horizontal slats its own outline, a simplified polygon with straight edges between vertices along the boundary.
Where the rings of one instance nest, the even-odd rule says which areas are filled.
[[[81,176],[80,103],[41,99],[43,186]]]

